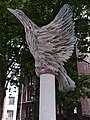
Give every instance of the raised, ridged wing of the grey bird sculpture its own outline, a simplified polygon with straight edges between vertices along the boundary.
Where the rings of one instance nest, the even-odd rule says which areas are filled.
[[[72,55],[76,38],[73,12],[68,4],[61,8],[50,24],[38,29],[37,39],[39,50],[50,53],[60,64]]]

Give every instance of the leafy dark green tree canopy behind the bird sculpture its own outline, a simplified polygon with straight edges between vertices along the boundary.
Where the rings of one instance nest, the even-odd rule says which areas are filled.
[[[2,96],[0,97],[0,105],[2,105],[5,96],[5,82],[11,80],[11,77],[7,77],[8,74],[13,72],[13,74],[18,75],[18,72],[20,72],[20,81],[22,81],[25,80],[28,73],[34,71],[34,59],[28,50],[23,27],[7,11],[7,8],[22,9],[38,26],[43,26],[53,20],[65,3],[70,4],[75,13],[74,20],[76,22],[75,30],[78,38],[78,48],[83,53],[87,52],[88,46],[90,46],[90,41],[86,39],[87,36],[90,36],[90,3],[88,0],[0,1],[0,63],[2,63],[0,64],[0,96]],[[72,66],[75,67],[75,61],[73,59],[70,61],[72,61]],[[70,64],[70,61],[66,67]],[[72,69],[68,71],[71,72]],[[75,75],[71,74],[70,76]],[[77,78],[75,81],[77,81]],[[1,118],[3,107],[0,107]]]

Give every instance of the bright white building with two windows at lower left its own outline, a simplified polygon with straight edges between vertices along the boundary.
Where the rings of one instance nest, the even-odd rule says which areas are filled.
[[[8,84],[6,97],[4,99],[2,120],[16,120],[18,102],[18,87]]]

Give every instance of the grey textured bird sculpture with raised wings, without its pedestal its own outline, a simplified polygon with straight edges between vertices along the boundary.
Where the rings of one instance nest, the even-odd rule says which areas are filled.
[[[75,82],[67,75],[64,62],[73,53],[76,37],[74,33],[73,12],[65,4],[55,19],[46,26],[38,27],[21,10],[10,9],[22,23],[26,33],[26,41],[35,59],[35,71],[40,76],[42,71],[55,73],[59,90],[74,90]]]

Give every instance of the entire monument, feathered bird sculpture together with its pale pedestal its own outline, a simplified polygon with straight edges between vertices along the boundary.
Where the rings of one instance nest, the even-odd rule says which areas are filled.
[[[8,10],[24,26],[29,50],[35,59],[35,71],[40,77],[39,120],[56,120],[55,77],[60,91],[75,88],[74,81],[63,67],[76,43],[73,12],[65,4],[52,22],[38,27],[21,10]]]

